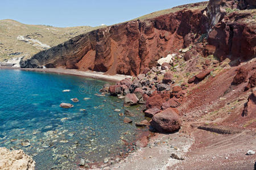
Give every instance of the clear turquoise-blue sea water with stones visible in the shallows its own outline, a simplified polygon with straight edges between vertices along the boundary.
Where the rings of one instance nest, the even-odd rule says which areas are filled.
[[[118,115],[124,112],[122,100],[94,95],[105,83],[109,82],[0,70],[0,147],[24,150],[36,161],[36,169],[72,169],[81,158],[101,162],[127,151],[123,141],[133,142],[139,130]],[[70,100],[74,97],[79,103]],[[74,107],[60,108],[63,102]],[[137,114],[133,122],[143,120],[138,107],[129,109]]]

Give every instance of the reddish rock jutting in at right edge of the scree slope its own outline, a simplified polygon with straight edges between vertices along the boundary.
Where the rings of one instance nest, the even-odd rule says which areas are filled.
[[[251,114],[256,116],[256,90],[248,97],[245,109],[243,110],[243,116],[249,116]]]

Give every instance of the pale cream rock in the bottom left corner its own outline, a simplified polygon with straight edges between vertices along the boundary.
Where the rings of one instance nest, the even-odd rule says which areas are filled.
[[[7,148],[1,147],[0,169],[34,170],[35,161],[26,155],[23,150],[10,151]]]

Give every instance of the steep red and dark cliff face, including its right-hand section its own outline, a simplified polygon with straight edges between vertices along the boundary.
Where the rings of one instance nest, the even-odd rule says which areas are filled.
[[[255,24],[241,19],[247,18],[247,14],[227,15],[225,10],[237,6],[237,1],[210,1],[205,10],[183,8],[153,19],[97,29],[39,52],[21,61],[20,66],[45,65],[138,75],[146,67],[154,66],[159,58],[197,43],[208,33],[208,45],[197,49],[204,56],[214,54],[221,60],[230,55],[252,58],[255,57]]]

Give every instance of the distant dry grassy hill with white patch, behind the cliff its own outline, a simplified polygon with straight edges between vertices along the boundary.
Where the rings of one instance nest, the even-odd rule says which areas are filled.
[[[50,25],[28,25],[11,19],[0,20],[0,62],[10,58],[30,58],[41,50],[100,27],[58,28]]]

